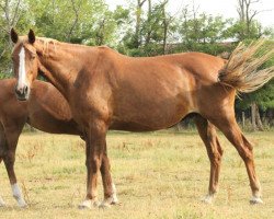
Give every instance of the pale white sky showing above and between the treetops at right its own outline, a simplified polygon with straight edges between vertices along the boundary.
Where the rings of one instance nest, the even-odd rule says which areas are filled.
[[[111,10],[116,5],[126,5],[129,0],[106,0]],[[136,1],[136,0],[130,0]],[[152,0],[157,2],[159,0]],[[171,13],[176,13],[185,4],[195,2],[199,7],[199,12],[206,12],[213,15],[222,15],[224,18],[237,18],[237,2],[238,0],[170,0],[168,9]],[[260,3],[253,4],[254,10],[261,11],[255,18],[263,26],[274,27],[274,0],[261,0]]]

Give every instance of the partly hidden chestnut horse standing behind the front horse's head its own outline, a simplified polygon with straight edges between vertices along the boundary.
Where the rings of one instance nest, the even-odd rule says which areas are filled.
[[[0,162],[4,162],[14,198],[20,207],[25,207],[14,172],[16,145],[24,124],[52,134],[81,135],[81,130],[67,101],[50,83],[35,80],[27,102],[16,100],[15,83],[15,79],[0,80]],[[4,205],[0,196],[0,207]]]

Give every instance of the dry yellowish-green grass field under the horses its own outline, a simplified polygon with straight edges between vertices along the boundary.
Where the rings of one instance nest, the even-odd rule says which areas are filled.
[[[196,131],[107,136],[112,175],[121,205],[79,210],[85,195],[84,145],[76,136],[24,134],[15,171],[28,203],[19,209],[3,164],[0,194],[8,207],[0,218],[274,218],[274,131],[247,134],[254,146],[264,204],[251,206],[246,168],[235,148],[220,135],[225,149],[220,188],[214,205],[206,194],[209,161]],[[103,198],[101,178],[100,199]]]

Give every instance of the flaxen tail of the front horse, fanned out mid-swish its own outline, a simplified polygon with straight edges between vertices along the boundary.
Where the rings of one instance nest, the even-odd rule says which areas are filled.
[[[249,93],[270,81],[274,77],[274,67],[259,68],[273,57],[274,48],[263,53],[263,39],[248,46],[240,43],[219,71],[219,82],[235,88],[237,92]]]

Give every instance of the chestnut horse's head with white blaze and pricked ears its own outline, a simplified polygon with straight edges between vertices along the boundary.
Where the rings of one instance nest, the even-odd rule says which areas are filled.
[[[35,34],[31,30],[27,36],[19,36],[12,28],[11,39],[14,43],[12,51],[13,71],[18,79],[15,94],[18,100],[26,101],[30,96],[32,82],[38,73],[38,58],[34,47]]]

